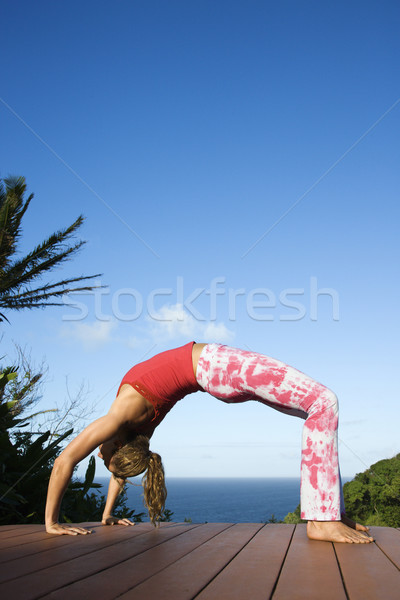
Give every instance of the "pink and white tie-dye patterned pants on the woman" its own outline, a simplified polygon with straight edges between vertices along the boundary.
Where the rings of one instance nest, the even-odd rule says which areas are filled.
[[[228,403],[257,400],[305,419],[302,439],[301,518],[339,521],[344,513],[338,462],[336,395],[293,367],[256,352],[207,344],[197,381]]]

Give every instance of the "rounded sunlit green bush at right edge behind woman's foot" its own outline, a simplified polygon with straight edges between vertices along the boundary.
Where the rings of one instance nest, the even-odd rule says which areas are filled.
[[[368,525],[400,527],[400,454],[380,460],[343,486],[346,514]]]

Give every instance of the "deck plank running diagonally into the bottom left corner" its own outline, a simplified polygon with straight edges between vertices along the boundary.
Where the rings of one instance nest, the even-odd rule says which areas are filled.
[[[115,538],[118,541],[117,544],[100,550],[93,549],[93,551],[84,557],[79,556],[78,558],[64,561],[62,566],[57,564],[52,567],[46,567],[44,564],[43,568],[36,573],[30,573],[3,583],[0,591],[3,597],[10,596],[12,598],[32,600],[62,586],[89,577],[103,569],[118,565],[128,558],[162,543],[166,539],[179,535],[183,530],[187,529],[187,526],[179,525],[155,529],[150,523],[141,523],[138,525],[136,532],[138,532],[139,527],[147,529],[144,535],[133,535],[131,538],[124,539],[123,541],[118,540],[122,528],[118,530],[114,527],[113,530]],[[190,527],[196,527],[196,525],[191,525]],[[131,531],[134,533],[135,527]],[[90,536],[85,536],[80,539],[89,541],[89,538]],[[73,539],[78,541],[77,538]],[[60,558],[62,559],[62,549],[60,549]]]

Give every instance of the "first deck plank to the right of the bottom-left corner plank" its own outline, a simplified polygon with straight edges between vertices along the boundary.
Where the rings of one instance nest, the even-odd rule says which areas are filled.
[[[206,523],[196,528],[186,527],[186,531],[163,544],[157,545],[137,556],[78,581],[73,585],[57,590],[48,600],[87,600],[101,598],[111,600],[135,585],[158,573],[182,556],[207,542],[210,538],[231,527],[228,523]]]

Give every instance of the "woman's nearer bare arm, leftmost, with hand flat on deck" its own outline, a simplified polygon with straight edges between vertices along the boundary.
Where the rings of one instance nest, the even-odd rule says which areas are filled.
[[[68,444],[54,461],[46,503],[46,531],[58,535],[89,533],[80,527],[65,527],[58,523],[61,501],[72,477],[74,467],[100,444],[118,433],[121,421],[115,414],[97,419]]]

